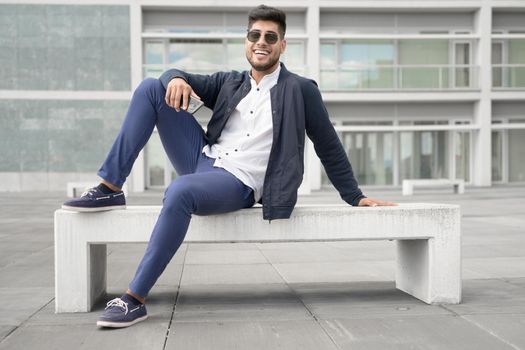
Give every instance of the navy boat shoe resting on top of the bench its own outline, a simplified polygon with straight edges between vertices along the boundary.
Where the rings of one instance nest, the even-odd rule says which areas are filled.
[[[126,197],[124,192],[103,193],[97,187],[86,190],[79,198],[71,199],[62,204],[62,209],[93,212],[112,209],[125,209]]]

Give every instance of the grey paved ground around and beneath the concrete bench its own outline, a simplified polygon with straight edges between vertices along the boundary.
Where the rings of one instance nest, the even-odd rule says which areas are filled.
[[[0,349],[525,349],[524,187],[366,192],[461,205],[460,305],[397,291],[390,242],[184,244],[150,295],[150,319],[100,330],[104,301],[91,313],[54,314],[52,214],[64,195],[3,193]],[[334,192],[301,201],[339,203]],[[143,251],[108,249],[108,297],[126,288]]]

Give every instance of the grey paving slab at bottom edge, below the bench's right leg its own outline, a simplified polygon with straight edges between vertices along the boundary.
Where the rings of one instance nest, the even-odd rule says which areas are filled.
[[[336,318],[323,320],[322,324],[343,350],[515,350],[505,341],[456,316]]]

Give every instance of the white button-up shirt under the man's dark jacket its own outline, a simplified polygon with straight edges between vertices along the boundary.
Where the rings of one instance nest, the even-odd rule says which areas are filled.
[[[262,197],[273,142],[270,89],[277,84],[280,71],[279,65],[259,85],[250,76],[252,88],[232,112],[217,143],[202,150],[215,158],[213,166],[225,169],[252,188],[256,202]]]

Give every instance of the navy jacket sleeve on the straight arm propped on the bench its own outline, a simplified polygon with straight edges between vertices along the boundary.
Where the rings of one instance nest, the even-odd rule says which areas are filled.
[[[307,81],[302,86],[302,93],[306,134],[314,144],[315,153],[321,159],[328,178],[341,198],[348,204],[357,206],[365,196],[359,189],[350,161],[328,117],[317,84],[313,80]]]

